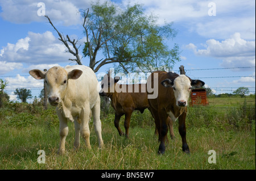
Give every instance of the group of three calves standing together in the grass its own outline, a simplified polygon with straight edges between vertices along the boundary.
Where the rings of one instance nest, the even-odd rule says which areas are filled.
[[[204,86],[204,82],[193,80],[186,75],[166,71],[155,71],[147,79],[146,84],[118,84],[119,77],[104,76],[101,90],[92,69],[84,65],[54,66],[47,72],[34,69],[30,75],[35,79],[44,79],[48,102],[56,106],[60,127],[59,153],[65,153],[65,139],[68,135],[68,120],[75,124],[75,149],[80,146],[80,134],[85,145],[90,149],[90,113],[98,138],[99,147],[104,146],[101,136],[100,96],[108,96],[115,111],[114,125],[120,136],[129,137],[131,114],[134,110],[141,113],[148,108],[155,121],[155,134],[158,134],[159,154],[164,154],[167,132],[170,130],[174,138],[173,123],[179,118],[179,133],[182,150],[190,153],[186,141],[185,118],[187,115],[188,98],[192,86]],[[125,115],[125,133],[119,127],[121,116]]]

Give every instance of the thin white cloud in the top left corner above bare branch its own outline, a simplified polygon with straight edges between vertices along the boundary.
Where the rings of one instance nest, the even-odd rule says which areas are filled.
[[[83,2],[83,3],[81,3]],[[0,16],[9,22],[13,23],[31,23],[31,22],[46,22],[44,16],[38,16],[39,2],[33,0],[27,1],[4,1],[0,0],[2,12]],[[88,2],[70,2],[70,1],[51,1],[44,0],[46,7],[46,15],[53,22],[58,21],[64,26],[72,26],[81,23],[79,9],[89,7]],[[79,5],[79,6],[76,6]]]

